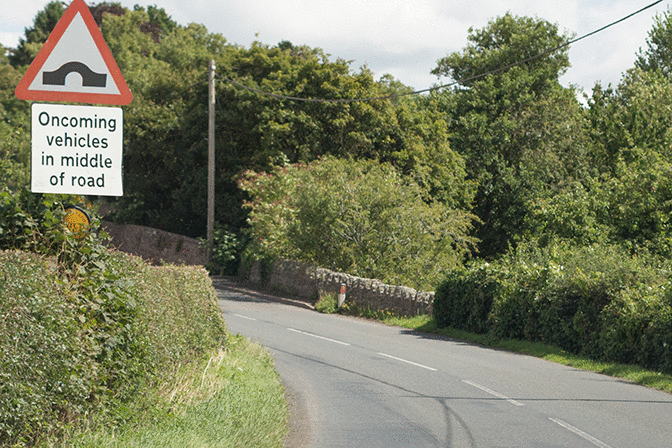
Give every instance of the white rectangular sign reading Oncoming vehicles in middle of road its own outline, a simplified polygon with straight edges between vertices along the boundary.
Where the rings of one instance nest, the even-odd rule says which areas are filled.
[[[123,196],[119,107],[32,105],[31,191]]]

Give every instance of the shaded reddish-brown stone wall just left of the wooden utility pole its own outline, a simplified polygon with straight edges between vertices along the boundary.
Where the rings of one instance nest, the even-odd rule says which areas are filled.
[[[208,251],[201,248],[194,238],[109,221],[103,221],[102,227],[110,234],[110,244],[116,249],[138,255],[154,264],[166,262],[205,266],[208,263]]]

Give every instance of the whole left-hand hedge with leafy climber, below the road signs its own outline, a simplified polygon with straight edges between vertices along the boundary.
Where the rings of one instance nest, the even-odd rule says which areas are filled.
[[[0,250],[10,250],[0,252],[3,445],[32,445],[123,409],[173,365],[225,343],[203,270],[157,272],[110,252],[97,220],[75,239],[61,200],[0,193]]]

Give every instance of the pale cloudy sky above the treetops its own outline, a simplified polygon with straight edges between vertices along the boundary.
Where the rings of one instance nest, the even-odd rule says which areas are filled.
[[[157,5],[180,25],[195,22],[249,47],[287,40],[324,50],[330,60],[367,66],[376,79],[391,74],[422,90],[447,82],[430,72],[442,57],[467,45],[469,28],[481,29],[507,12],[557,24],[580,37],[655,0],[116,0],[123,6]],[[0,44],[15,47],[25,28],[49,0],[3,0]],[[66,0],[69,5],[70,1]],[[99,1],[89,1],[99,3]],[[627,21],[574,44],[572,67],[560,79],[590,93],[596,82],[618,85],[646,48],[654,17],[670,8],[665,0]]]

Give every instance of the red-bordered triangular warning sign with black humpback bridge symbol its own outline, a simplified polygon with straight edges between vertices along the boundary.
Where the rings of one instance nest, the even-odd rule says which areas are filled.
[[[133,95],[84,0],[73,0],[16,88],[21,100],[126,105]]]

